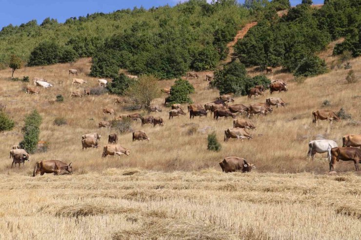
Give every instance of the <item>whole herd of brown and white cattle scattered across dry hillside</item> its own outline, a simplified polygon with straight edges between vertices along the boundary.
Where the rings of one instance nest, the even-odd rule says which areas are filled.
[[[267,69],[267,73],[271,72],[272,69]],[[78,74],[78,71],[75,69],[69,70],[70,74]],[[130,78],[138,78],[137,76],[127,75]],[[198,78],[198,74],[196,73],[188,73],[187,79],[189,77]],[[213,76],[206,75],[206,80],[210,81],[213,79]],[[107,80],[99,79],[99,86],[105,87],[107,85]],[[41,86],[43,88],[52,87],[52,84],[48,83],[45,79],[42,78],[33,78],[33,83],[36,87]],[[86,84],[87,81],[79,78],[73,78],[72,84]],[[270,89],[270,93],[273,92],[282,92],[287,91],[287,83],[276,80],[272,82],[268,87]],[[265,91],[264,86],[258,85],[249,90],[248,98],[251,98],[253,95],[255,98],[258,95],[263,95]],[[161,92],[168,93],[170,89],[162,89]],[[26,93],[39,93],[37,88],[27,87]],[[90,94],[89,89],[84,89],[84,94]],[[79,96],[81,97],[80,92],[71,92],[70,96]],[[114,104],[124,103],[126,100],[123,98],[116,98]],[[234,102],[233,94],[228,93],[221,95],[217,100],[206,103],[204,105],[201,104],[190,104],[187,106],[189,118],[192,119],[195,116],[207,116],[208,113],[213,114],[213,118],[218,120],[219,117],[232,117],[233,118],[233,128],[225,129],[224,131],[224,141],[229,140],[230,138],[234,139],[252,139],[253,134],[250,133],[249,130],[256,129],[256,126],[249,119],[250,116],[255,116],[256,114],[267,115],[268,113],[273,112],[272,106],[285,107],[287,103],[284,102],[280,97],[269,97],[266,99],[265,103],[255,103],[250,104],[249,106],[245,106],[243,104],[233,104],[228,105],[229,103]],[[148,106],[149,112],[161,112],[162,109],[158,105]],[[239,118],[236,119],[236,114],[241,115],[245,112],[248,116],[248,119]],[[103,115],[111,114],[116,115],[116,111],[114,109],[105,108],[102,110]],[[171,106],[171,110],[169,111],[169,120],[173,117],[180,115],[186,115],[182,105],[173,104]],[[318,120],[328,120],[332,124],[333,120],[340,121],[340,118],[333,111],[326,110],[317,110],[312,112],[313,122],[318,125]],[[164,120],[161,117],[154,117],[152,115],[143,117],[140,113],[133,114],[122,114],[116,117],[116,120],[122,120],[124,118],[129,118],[131,120],[140,120],[141,126],[145,124],[153,124],[154,127],[157,125],[164,126]],[[109,121],[100,121],[98,123],[99,128],[110,128],[111,123]],[[81,145],[82,149],[86,148],[98,148],[99,141],[101,136],[94,132],[89,134],[84,134],[81,136]],[[132,134],[132,140],[148,140],[149,137],[144,131],[135,131]],[[327,152],[327,159],[329,160],[330,171],[334,170],[334,165],[336,161],[353,161],[355,163],[355,168],[358,171],[358,164],[361,163],[361,135],[345,135],[343,136],[343,146],[338,147],[337,143],[333,140],[314,140],[309,142],[309,150],[308,157],[312,157],[314,159],[314,155],[316,153],[325,153]],[[12,167],[15,164],[22,163],[24,165],[25,161],[29,161],[30,155],[24,150],[20,149],[19,146],[13,146],[13,149],[10,151],[10,158],[13,158]],[[118,135],[116,133],[111,133],[108,136],[108,145],[103,147],[102,157],[110,156],[119,156],[120,155],[130,155],[129,149],[123,148],[118,144]],[[233,171],[242,171],[248,172],[251,171],[252,168],[255,168],[253,164],[248,164],[247,161],[243,158],[238,157],[226,157],[220,163],[223,172],[233,172]],[[72,173],[72,166],[70,164],[63,163],[61,161],[39,161],[36,163],[34,168],[33,176],[36,176],[40,173],[43,175],[44,173],[54,173],[59,174],[61,170],[66,170],[69,173]]]

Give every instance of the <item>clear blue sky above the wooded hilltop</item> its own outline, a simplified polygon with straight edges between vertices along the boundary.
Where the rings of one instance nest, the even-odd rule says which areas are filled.
[[[301,0],[290,0],[297,5]],[[32,19],[40,24],[45,18],[55,18],[64,22],[70,17],[86,16],[88,13],[109,13],[134,6],[150,8],[177,4],[180,0],[0,0],[0,29],[9,25],[20,25]],[[244,2],[244,0],[239,0]],[[323,0],[313,0],[314,4]]]

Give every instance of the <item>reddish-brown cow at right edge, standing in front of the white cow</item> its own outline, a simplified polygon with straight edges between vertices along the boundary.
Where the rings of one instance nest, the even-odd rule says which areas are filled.
[[[336,161],[354,161],[356,171],[359,170],[361,163],[361,150],[359,148],[351,147],[336,147],[331,149],[332,159],[330,161],[330,171],[334,170]]]

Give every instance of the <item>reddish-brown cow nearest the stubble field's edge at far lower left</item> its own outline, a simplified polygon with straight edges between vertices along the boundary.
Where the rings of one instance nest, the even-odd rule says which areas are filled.
[[[54,173],[54,175],[59,175],[61,170],[66,170],[69,173],[73,173],[73,167],[70,164],[58,160],[45,160],[39,161],[35,164],[33,177],[38,175],[44,175],[44,173]]]

